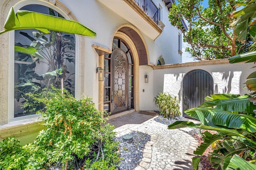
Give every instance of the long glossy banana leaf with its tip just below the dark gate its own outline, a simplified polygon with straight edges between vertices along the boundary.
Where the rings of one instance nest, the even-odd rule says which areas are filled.
[[[217,108],[193,108],[184,112],[190,117],[199,119],[196,111],[202,111],[204,117],[214,125],[241,128],[248,132],[256,132],[256,117],[251,115],[235,114]]]

